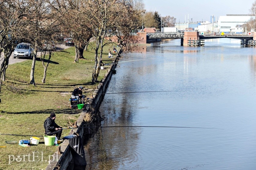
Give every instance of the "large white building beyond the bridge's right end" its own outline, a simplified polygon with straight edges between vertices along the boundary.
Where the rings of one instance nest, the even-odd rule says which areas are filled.
[[[238,32],[236,26],[243,25],[253,15],[239,15],[239,14],[227,14],[226,16],[219,16],[218,31],[219,32]],[[239,30],[240,32],[240,30]]]

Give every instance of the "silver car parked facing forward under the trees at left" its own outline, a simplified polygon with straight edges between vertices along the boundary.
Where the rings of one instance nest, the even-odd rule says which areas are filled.
[[[16,46],[13,51],[13,58],[28,58],[31,59],[34,55],[34,49],[31,44],[28,43],[20,43]]]

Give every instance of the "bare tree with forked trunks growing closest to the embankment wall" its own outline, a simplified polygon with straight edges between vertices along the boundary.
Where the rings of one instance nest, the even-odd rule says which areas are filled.
[[[87,1],[87,3],[84,4],[84,9],[86,9],[84,14],[87,16],[92,34],[96,39],[92,82],[96,82],[99,75],[99,65],[102,62],[102,51],[106,32],[110,30],[116,22],[119,22],[116,16],[122,13],[121,6],[124,5],[124,3],[125,1],[122,0],[95,0]],[[98,55],[99,50],[100,55]]]

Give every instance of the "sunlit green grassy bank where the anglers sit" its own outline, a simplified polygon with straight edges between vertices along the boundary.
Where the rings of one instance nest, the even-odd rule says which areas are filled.
[[[103,62],[110,63],[108,49],[105,47]],[[111,49],[111,48],[110,48]],[[0,104],[0,133],[44,135],[43,123],[50,113],[56,114],[56,123],[62,127],[71,126],[79,117],[81,110],[71,109],[69,98],[74,88],[83,85],[88,90],[83,94],[91,97],[97,84],[91,83],[94,66],[93,51],[84,52],[85,59],[74,63],[75,49],[68,48],[54,52],[48,66],[46,83],[42,83],[43,65],[37,58],[35,66],[36,86],[28,85],[32,60],[9,65],[6,81],[2,86]],[[107,69],[101,70],[98,80],[101,80]],[[63,130],[66,136],[69,130]],[[45,169],[49,156],[57,146],[45,146],[40,137],[38,146],[22,147],[18,144],[6,144],[6,140],[29,139],[30,137],[0,135],[0,169]],[[34,156],[33,156],[34,154]],[[43,155],[43,157],[42,157]],[[34,158],[34,160],[33,160]]]

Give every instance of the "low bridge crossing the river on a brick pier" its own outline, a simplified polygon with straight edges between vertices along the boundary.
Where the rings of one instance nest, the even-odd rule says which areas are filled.
[[[248,41],[256,40],[256,33],[207,33],[207,32],[171,32],[171,33],[147,33],[148,40],[156,39],[181,39],[181,45],[189,45],[192,40],[205,40],[216,38],[232,38],[241,39],[248,43]],[[249,45],[249,44],[248,44]]]

